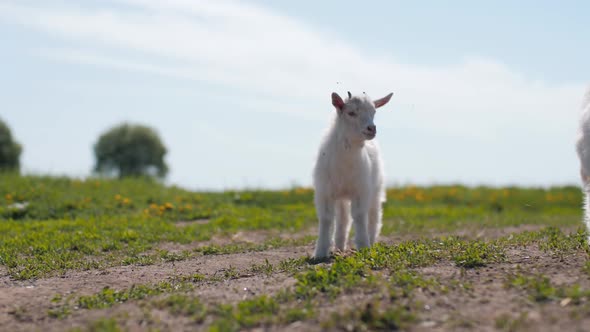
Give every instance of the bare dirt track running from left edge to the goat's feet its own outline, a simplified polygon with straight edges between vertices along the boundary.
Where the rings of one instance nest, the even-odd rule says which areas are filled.
[[[229,268],[241,273],[241,278],[232,280],[231,285],[222,285],[223,289],[247,287],[255,291],[260,287],[260,280],[255,276],[248,278],[244,274],[253,264],[262,264],[266,260],[277,264],[288,258],[298,258],[311,252],[311,247],[280,248],[257,253],[232,255],[199,256],[179,262],[162,263],[149,266],[121,266],[105,270],[72,271],[61,277],[52,277],[34,281],[12,281],[8,276],[0,278],[0,326],[16,330],[29,330],[33,326],[48,320],[47,311],[52,307],[51,299],[56,294],[89,295],[104,287],[123,289],[134,284],[155,283],[181,275],[200,273],[206,276],[222,274]],[[285,278],[283,276],[283,278]],[[244,286],[244,287],[242,287]],[[230,292],[219,292],[220,285],[200,288],[205,296],[218,300],[235,297]],[[15,315],[15,313],[18,313]],[[16,317],[21,316],[21,317]],[[25,324],[23,324],[25,323]]]

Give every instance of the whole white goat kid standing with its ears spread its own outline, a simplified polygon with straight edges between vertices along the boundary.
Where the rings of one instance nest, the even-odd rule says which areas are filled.
[[[351,216],[357,249],[371,246],[379,235],[385,188],[383,163],[373,140],[377,134],[373,118],[375,109],[387,104],[392,95],[373,102],[364,94],[352,97],[349,92],[345,102],[332,93],[337,114],[320,146],[314,169],[319,219],[316,258],[327,257],[334,242],[337,249],[346,249]]]

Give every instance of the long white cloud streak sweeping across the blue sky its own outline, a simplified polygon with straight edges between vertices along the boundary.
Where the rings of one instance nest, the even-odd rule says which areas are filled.
[[[533,81],[498,61],[466,56],[453,66],[403,64],[385,53],[356,49],[294,18],[237,1],[119,0],[100,10],[76,3],[9,1],[0,4],[0,19],[68,42],[67,48],[41,50],[43,56],[216,82],[287,105],[279,109],[274,107],[279,103],[260,102],[263,109],[312,118],[323,118],[318,109],[329,109],[332,90],[366,91],[374,97],[394,91],[393,110],[380,115],[386,129],[414,128],[413,141],[425,139],[420,133],[428,133],[428,139],[459,137],[463,148],[490,160],[494,156],[486,151],[530,145],[529,151],[506,155],[517,170],[544,160],[538,156],[543,146],[561,149],[556,154],[570,149],[575,135],[582,85]],[[302,107],[289,106],[295,104]],[[572,156],[568,158],[565,162],[572,164]],[[461,163],[469,163],[465,159]],[[485,174],[482,178],[489,179]]]

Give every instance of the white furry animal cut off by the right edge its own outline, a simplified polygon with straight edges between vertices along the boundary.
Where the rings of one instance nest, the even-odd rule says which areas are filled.
[[[590,89],[582,102],[582,117],[576,149],[580,158],[580,176],[584,192],[584,222],[590,231]]]

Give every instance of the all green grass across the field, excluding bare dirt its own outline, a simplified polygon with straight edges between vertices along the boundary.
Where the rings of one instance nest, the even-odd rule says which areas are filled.
[[[0,183],[0,266],[17,280],[71,270],[179,262],[201,255],[255,255],[310,245],[315,239],[303,232],[317,225],[313,192],[307,188],[191,192],[146,179],[77,180],[14,174],[0,174]],[[529,246],[558,258],[587,252],[587,233],[579,227],[582,197],[576,187],[409,186],[391,188],[387,195],[382,234],[410,235],[403,238],[414,240],[379,243],[321,262],[309,257],[277,264],[264,261],[245,270],[225,266],[213,275],[192,273],[125,289],[105,288],[85,296],[58,294],[47,315],[68,319],[73,313],[134,302],[145,310],[188,318],[192,326],[204,324],[212,331],[280,329],[296,321],[327,329],[403,330],[419,320],[423,305],[417,293],[469,292],[473,287],[460,278],[442,282],[425,277],[419,272],[423,267],[445,264],[462,274],[478,273],[477,269],[506,262],[509,250]],[[486,240],[453,235],[520,225],[536,225],[539,230]],[[563,231],[572,227],[579,227],[578,231]],[[229,240],[248,231],[264,231],[267,236],[257,243]],[[224,237],[228,239],[224,245],[207,242]],[[191,249],[168,251],[161,249],[163,243]],[[589,275],[588,271],[590,264],[583,273]],[[199,285],[205,283],[224,289],[234,279],[277,274],[293,277],[294,285],[276,294],[231,303],[211,303],[198,296]],[[541,274],[511,275],[506,284],[537,304],[567,300],[579,305],[590,300],[590,291],[580,285],[555,285]],[[355,294],[363,295],[364,300],[342,312],[318,311]],[[24,308],[12,313],[17,319],[27,315]],[[518,329],[525,319],[499,316],[495,327]],[[125,326],[117,324],[121,321],[99,319],[84,330],[117,331]]]

